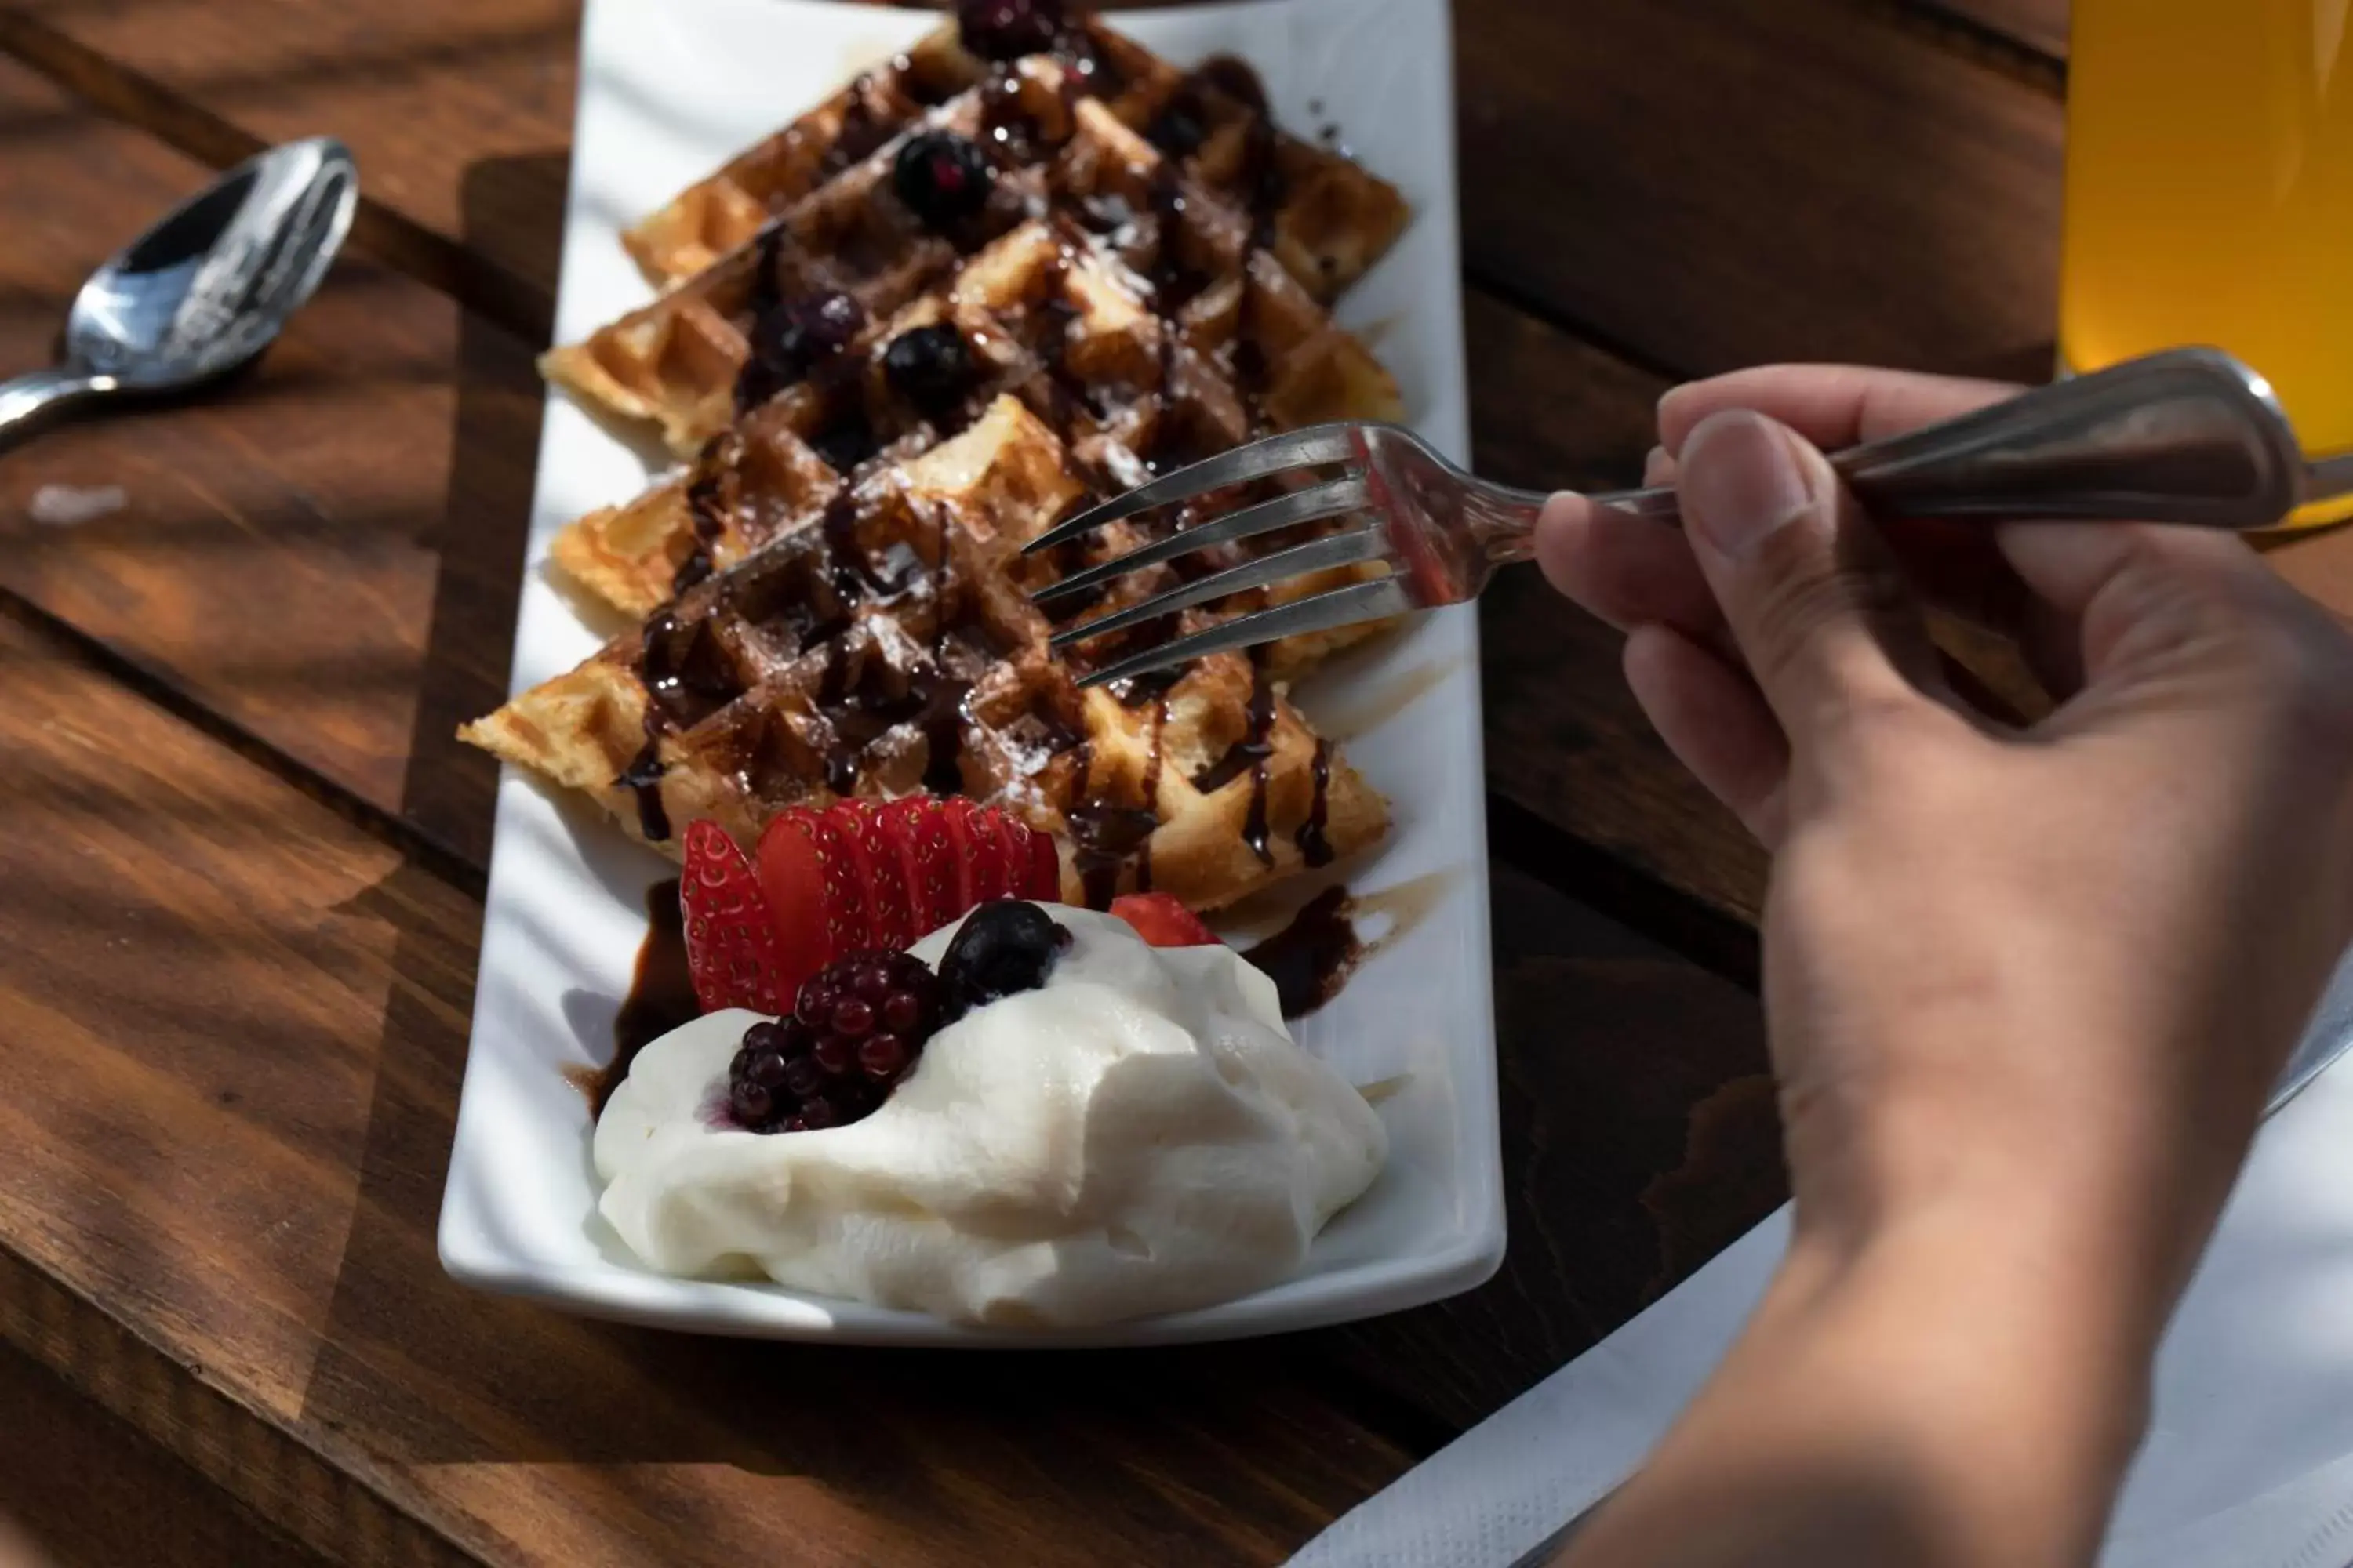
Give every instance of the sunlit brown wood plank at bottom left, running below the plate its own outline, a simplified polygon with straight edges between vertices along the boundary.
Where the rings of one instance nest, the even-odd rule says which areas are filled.
[[[1275,1563],[1297,1347],[732,1345],[433,1255],[480,907],[0,621],[0,1338],[346,1563]]]

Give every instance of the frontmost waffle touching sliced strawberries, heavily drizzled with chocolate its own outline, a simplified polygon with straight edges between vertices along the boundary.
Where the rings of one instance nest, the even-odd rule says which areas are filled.
[[[461,733],[673,853],[694,818],[748,844],[788,806],[969,795],[1056,835],[1064,896],[1096,907],[1214,910],[1379,842],[1379,795],[1247,656],[1075,686],[1019,548],[1082,494],[1054,430],[998,397]]]

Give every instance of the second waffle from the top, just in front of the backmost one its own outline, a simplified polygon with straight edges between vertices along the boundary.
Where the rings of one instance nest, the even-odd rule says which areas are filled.
[[[762,343],[772,334],[762,324],[774,320],[779,301],[842,292],[868,320],[889,317],[951,275],[962,256],[1042,214],[1092,226],[1122,240],[1122,249],[1151,256],[1158,292],[1193,306],[1221,296],[1212,284],[1249,270],[1280,270],[1301,303],[1320,306],[1332,284],[1360,275],[1402,230],[1402,197],[1358,165],[1271,141],[1264,115],[1235,108],[1242,99],[1158,61],[1153,71],[1172,82],[1165,92],[1174,101],[1224,106],[1200,110],[1219,129],[1186,158],[1169,158],[1129,125],[1139,108],[1122,118],[1106,99],[1089,96],[1089,82],[1104,85],[1101,68],[1089,78],[1056,56],[1028,56],[906,122],[652,306],[584,343],[551,350],[541,364],[591,407],[619,421],[654,423],[675,454],[694,456],[774,390],[772,353]],[[1235,71],[1228,66],[1209,82]],[[1144,89],[1127,96],[1139,94]],[[1221,113],[1235,118],[1221,120]],[[1155,125],[1167,118],[1169,110]],[[1191,143],[1200,120],[1174,118],[1186,125],[1174,146]],[[812,120],[838,122],[840,110]],[[995,165],[984,209],[948,228],[922,223],[896,200],[892,179],[906,141],[936,132],[984,146]],[[784,141],[793,136],[786,132]],[[814,129],[802,139],[821,141]],[[845,146],[838,127],[828,146],[835,153]],[[1306,167],[1285,174],[1287,158]],[[819,158],[809,172],[826,165]],[[656,233],[708,230],[718,223],[711,214],[741,209],[732,195],[718,195],[736,186],[718,179],[708,190],[696,188],[701,197],[689,193],[673,202],[678,216],[656,221]],[[701,254],[699,247],[666,247],[664,254],[671,252]],[[1261,252],[1273,266],[1252,268]]]

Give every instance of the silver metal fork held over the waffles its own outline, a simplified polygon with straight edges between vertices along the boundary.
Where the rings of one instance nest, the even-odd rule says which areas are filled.
[[[1386,576],[1235,616],[1172,637],[1080,679],[1080,686],[1167,670],[1280,637],[1384,621],[1475,599],[1497,567],[1532,552],[1546,496],[1478,480],[1395,425],[1294,430],[1195,463],[1106,501],[1024,550],[1033,555],[1122,517],[1231,484],[1344,465],[1278,496],[1127,555],[1087,567],[1033,595],[1045,607],[1099,590],[1139,567],[1329,517],[1360,527],[1172,588],[1144,604],[1054,635],[1054,646],[1120,632],[1179,609],[1268,588],[1311,571],[1377,562]],[[1882,517],[2094,517],[2261,529],[2308,501],[2353,489],[2353,454],[2306,463],[2271,383],[2214,348],[2169,348],[2057,381],[2007,402],[1831,458],[1857,498]],[[1595,496],[1640,517],[1675,522],[1673,489]]]

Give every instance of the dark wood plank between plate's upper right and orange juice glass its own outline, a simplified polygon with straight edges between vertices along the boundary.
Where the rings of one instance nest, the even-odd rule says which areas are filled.
[[[1475,282],[1678,374],[2049,364],[2061,110],[1842,0],[1459,0]]]

